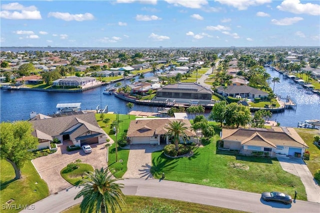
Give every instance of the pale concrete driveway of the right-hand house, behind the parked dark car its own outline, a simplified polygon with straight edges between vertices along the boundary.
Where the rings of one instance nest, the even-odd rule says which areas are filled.
[[[301,158],[277,157],[282,169],[299,177],[305,187],[307,200],[320,203],[320,187]],[[299,192],[297,192],[299,193]]]

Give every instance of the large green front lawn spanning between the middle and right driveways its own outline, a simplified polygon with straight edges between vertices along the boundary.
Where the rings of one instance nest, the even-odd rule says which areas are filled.
[[[284,172],[276,158],[257,158],[246,156],[216,154],[218,135],[211,143],[194,151],[190,158],[166,158],[162,151],[152,153],[151,172],[155,178],[164,172],[165,179],[211,187],[261,193],[262,191],[280,191],[294,195],[298,200],[306,200],[301,180]],[[248,170],[235,169],[228,163],[240,163]]]

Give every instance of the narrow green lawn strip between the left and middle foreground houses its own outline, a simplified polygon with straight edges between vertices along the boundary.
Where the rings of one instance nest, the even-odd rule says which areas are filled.
[[[113,141],[115,141],[115,135],[110,134],[111,128],[110,124],[112,123],[113,120],[116,119],[116,114],[105,114],[104,118],[110,118],[110,122],[105,125],[101,119],[100,115],[96,114],[95,118],[99,124],[99,126],[112,138]],[[128,115],[119,115],[119,132],[117,134],[117,137],[121,136],[122,133],[126,133],[130,121],[135,120],[134,115],[130,115],[130,118]],[[127,162],[128,162],[128,157],[129,157],[129,150],[126,149],[121,149],[120,147],[117,148],[117,162],[115,162],[115,143],[112,144],[112,146],[109,147],[109,159],[108,159],[108,167],[111,173],[114,175],[116,178],[121,178],[124,173],[127,171]],[[122,160],[120,162],[119,160]]]

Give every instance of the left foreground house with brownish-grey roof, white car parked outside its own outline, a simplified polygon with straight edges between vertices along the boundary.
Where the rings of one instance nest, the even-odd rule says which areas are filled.
[[[106,142],[107,134],[97,124],[94,113],[40,118],[29,120],[34,128],[32,135],[39,140],[38,149],[49,147],[54,138],[62,143],[70,140],[75,146]]]

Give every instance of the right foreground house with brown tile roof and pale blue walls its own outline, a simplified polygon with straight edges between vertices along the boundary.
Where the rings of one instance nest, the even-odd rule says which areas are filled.
[[[309,148],[295,130],[289,127],[222,129],[220,137],[223,149],[238,150],[244,155],[262,152],[272,157],[303,156]]]

